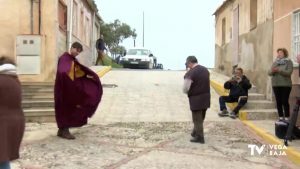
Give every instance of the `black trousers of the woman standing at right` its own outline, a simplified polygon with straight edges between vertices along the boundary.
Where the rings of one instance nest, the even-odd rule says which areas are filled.
[[[279,117],[290,117],[289,97],[291,90],[291,87],[273,87]]]

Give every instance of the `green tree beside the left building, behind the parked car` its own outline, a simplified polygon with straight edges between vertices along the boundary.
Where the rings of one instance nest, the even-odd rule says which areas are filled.
[[[108,24],[102,21],[100,28],[100,33],[104,36],[104,42],[113,56],[124,53],[126,50],[123,46],[119,46],[123,40],[129,37],[137,37],[135,29],[132,30],[129,25],[118,19]]]

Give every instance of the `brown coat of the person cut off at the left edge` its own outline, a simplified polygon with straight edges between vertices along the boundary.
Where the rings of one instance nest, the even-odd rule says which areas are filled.
[[[21,98],[18,78],[0,74],[0,163],[19,158],[25,128]]]

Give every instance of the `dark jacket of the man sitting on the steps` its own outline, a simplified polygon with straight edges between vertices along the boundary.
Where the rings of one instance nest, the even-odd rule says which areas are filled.
[[[248,96],[248,90],[252,87],[249,79],[243,75],[240,83],[229,80],[224,83],[224,88],[230,90],[229,96],[239,98],[240,96]]]

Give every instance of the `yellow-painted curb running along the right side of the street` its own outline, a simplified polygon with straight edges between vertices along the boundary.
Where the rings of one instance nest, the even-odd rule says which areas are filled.
[[[226,89],[223,88],[222,84],[220,84],[214,80],[210,80],[210,85],[215,89],[215,91],[219,95],[228,95],[228,92],[226,91]],[[235,104],[232,104],[232,103],[229,103],[227,105],[231,109],[236,106]],[[283,142],[281,140],[277,139],[272,134],[268,133],[267,131],[265,131],[262,128],[255,126],[252,122],[248,121],[247,114],[248,113],[245,111],[240,111],[240,113],[239,113],[239,119],[242,121],[243,124],[248,126],[252,131],[254,131],[258,136],[260,136],[266,142],[268,142],[270,144],[274,144],[274,145],[282,145],[283,144]],[[289,146],[289,147],[287,147],[287,150],[285,150],[285,152],[287,154],[288,159],[291,162],[300,166],[300,152],[299,151],[297,151],[295,148]]]

